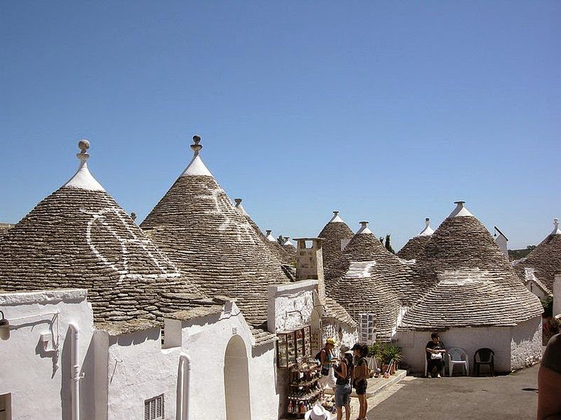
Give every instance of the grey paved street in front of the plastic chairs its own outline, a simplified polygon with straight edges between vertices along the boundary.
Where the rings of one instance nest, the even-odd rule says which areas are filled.
[[[369,399],[368,418],[535,419],[537,387],[538,365],[499,377],[405,377]]]

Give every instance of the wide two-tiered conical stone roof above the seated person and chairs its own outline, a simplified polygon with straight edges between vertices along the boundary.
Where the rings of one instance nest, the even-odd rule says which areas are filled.
[[[543,311],[463,201],[432,234],[415,271],[424,295],[403,328],[513,326]]]

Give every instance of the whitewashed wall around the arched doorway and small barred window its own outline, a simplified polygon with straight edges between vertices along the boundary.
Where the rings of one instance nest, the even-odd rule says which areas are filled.
[[[274,343],[253,347],[254,336],[244,317],[235,304],[228,305],[221,314],[166,321],[164,348],[159,328],[116,337],[103,333],[109,343],[108,418],[142,419],[144,401],[163,394],[165,419],[175,420],[180,355],[185,353],[191,359],[189,419],[225,419],[224,356],[229,341],[239,336],[246,349],[251,391],[247,419],[278,419]],[[170,346],[168,336],[175,346]]]

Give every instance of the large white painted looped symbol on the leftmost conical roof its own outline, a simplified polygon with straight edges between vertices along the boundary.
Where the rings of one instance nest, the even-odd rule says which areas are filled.
[[[165,279],[180,277],[180,272],[147,238],[139,236],[122,209],[109,206],[87,211],[86,241],[105,265],[124,279]]]

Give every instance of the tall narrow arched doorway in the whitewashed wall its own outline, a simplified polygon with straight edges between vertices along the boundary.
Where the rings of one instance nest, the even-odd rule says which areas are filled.
[[[240,336],[230,338],[224,355],[224,395],[227,420],[251,420],[246,344]]]

